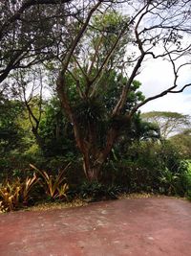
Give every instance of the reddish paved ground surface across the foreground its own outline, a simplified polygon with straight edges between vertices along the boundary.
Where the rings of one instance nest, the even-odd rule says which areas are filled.
[[[1,256],[190,256],[191,203],[135,198],[0,215]]]

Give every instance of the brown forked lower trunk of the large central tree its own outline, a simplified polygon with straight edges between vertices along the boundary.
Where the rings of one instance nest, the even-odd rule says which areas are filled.
[[[62,72],[60,72],[59,74],[56,85],[61,105],[65,110],[65,113],[67,114],[70,122],[73,124],[76,146],[83,156],[84,173],[90,182],[98,181],[101,168],[107,160],[107,157],[115,144],[118,128],[112,126],[108,130],[106,134],[105,145],[102,147],[102,149],[100,149],[100,146],[97,144],[97,131],[94,128],[94,125],[90,124],[89,126],[87,126],[86,132],[84,132],[84,130],[81,130],[76,120],[74,109],[69,101],[67,92],[65,90],[66,81]]]

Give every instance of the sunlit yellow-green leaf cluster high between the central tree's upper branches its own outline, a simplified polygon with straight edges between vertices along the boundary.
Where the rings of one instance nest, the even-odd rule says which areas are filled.
[[[96,49],[96,47],[99,46],[97,66],[101,65],[111,47],[116,42],[117,36],[121,33],[121,30],[127,26],[128,22],[129,17],[127,15],[122,15],[114,10],[105,12],[104,14],[96,14],[96,16],[93,17],[91,23],[92,27],[88,35],[91,38],[92,49]],[[128,27],[130,28],[129,25]],[[130,30],[127,30],[121,36],[115,52],[107,63],[107,67],[120,65],[125,55],[125,46],[129,41]],[[94,58],[91,52],[92,51],[90,51],[90,58]]]

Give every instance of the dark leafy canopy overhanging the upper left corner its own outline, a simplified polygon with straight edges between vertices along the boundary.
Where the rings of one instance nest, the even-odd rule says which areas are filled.
[[[33,2],[34,3],[34,2]],[[56,56],[56,47],[60,44],[62,36],[69,41],[70,28],[67,28],[65,20],[65,5],[36,6],[30,4],[25,6],[25,12],[20,12],[23,2],[1,1],[1,24],[8,24],[2,27],[1,34],[1,67],[3,76],[7,77],[11,70],[18,66],[28,66],[29,62],[41,62]],[[31,8],[30,8],[31,7]],[[14,16],[15,13],[17,16]],[[13,19],[12,19],[13,17]],[[20,17],[20,18],[19,18]],[[17,20],[19,18],[19,20]],[[59,23],[59,28],[54,26]],[[64,31],[60,32],[60,26]],[[70,35],[70,36],[69,36]],[[58,42],[55,38],[60,38]],[[62,44],[62,49],[64,49]],[[28,60],[27,60],[28,59]],[[29,65],[31,67],[31,64]],[[22,69],[23,70],[23,69]],[[11,81],[6,82],[11,83]]]

